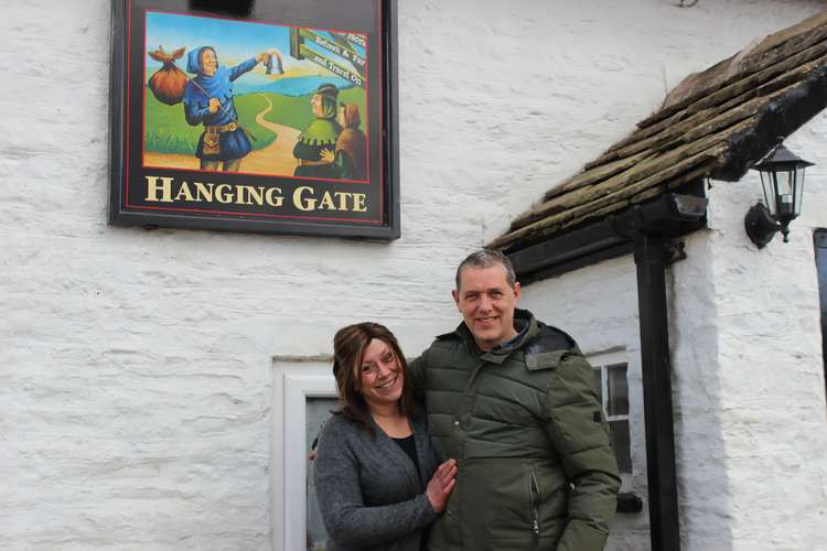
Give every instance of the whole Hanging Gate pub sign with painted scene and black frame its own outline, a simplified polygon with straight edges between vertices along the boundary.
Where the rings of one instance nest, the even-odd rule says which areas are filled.
[[[397,0],[114,0],[110,223],[399,237]]]

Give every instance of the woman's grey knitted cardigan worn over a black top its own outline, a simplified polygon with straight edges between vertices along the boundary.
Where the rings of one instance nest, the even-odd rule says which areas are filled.
[[[419,551],[423,529],[438,516],[425,495],[437,460],[423,417],[411,424],[419,474],[375,423],[373,435],[341,414],[325,423],[313,476],[330,551]]]

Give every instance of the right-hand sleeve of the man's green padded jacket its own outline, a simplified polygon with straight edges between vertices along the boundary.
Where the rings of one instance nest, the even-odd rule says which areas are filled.
[[[546,396],[548,435],[571,483],[568,522],[557,551],[601,551],[614,517],[620,474],[592,367],[578,352],[562,356]]]

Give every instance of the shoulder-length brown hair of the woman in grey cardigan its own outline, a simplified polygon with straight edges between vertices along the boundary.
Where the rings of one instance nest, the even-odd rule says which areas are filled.
[[[374,338],[384,341],[390,347],[402,371],[402,396],[399,398],[399,411],[407,415],[414,409],[408,364],[405,361],[405,355],[394,334],[384,325],[373,322],[356,323],[342,327],[333,337],[333,376],[336,378],[336,388],[339,389],[339,410],[336,413],[363,425],[369,432],[373,432],[373,423],[370,422],[367,402],[365,402],[361,391],[359,364],[362,364],[365,348]]]

